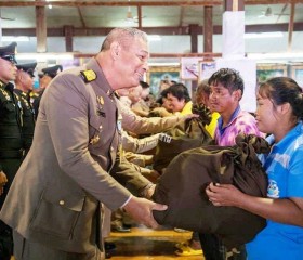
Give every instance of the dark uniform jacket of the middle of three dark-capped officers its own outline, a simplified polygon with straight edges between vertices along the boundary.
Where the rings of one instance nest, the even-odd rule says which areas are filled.
[[[23,142],[24,148],[28,151],[32,143],[34,130],[35,130],[35,112],[30,103],[30,96],[28,93],[23,92],[19,89],[14,89],[14,92],[18,95],[22,109],[23,109]]]

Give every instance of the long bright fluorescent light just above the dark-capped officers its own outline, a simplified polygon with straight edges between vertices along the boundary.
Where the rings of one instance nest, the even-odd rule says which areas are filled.
[[[37,62],[44,62],[49,60],[73,60],[73,53],[17,53],[16,60],[36,60]]]

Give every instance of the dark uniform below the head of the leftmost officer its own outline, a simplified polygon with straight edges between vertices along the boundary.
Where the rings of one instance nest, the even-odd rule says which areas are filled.
[[[0,196],[0,209],[24,156],[23,110],[19,99],[13,89],[12,83],[0,82],[0,171],[3,171],[8,178],[3,194]],[[0,259],[10,260],[12,249],[11,229],[0,221]]]

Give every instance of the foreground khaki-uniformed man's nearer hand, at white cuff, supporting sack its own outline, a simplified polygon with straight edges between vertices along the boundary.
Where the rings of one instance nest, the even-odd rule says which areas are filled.
[[[168,206],[156,204],[145,198],[132,197],[123,209],[137,222],[148,227],[158,227],[157,221],[154,219],[153,210],[167,210]]]

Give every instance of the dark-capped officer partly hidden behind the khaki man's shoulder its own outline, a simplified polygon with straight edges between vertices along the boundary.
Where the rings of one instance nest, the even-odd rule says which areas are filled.
[[[63,67],[61,65],[55,65],[52,67],[45,67],[41,69],[41,73],[38,74],[39,76],[39,96],[37,99],[34,99],[32,106],[35,110],[35,117],[37,119],[39,106],[40,106],[40,100],[42,98],[42,94],[48,87],[48,84],[52,81],[52,79],[63,70]]]

